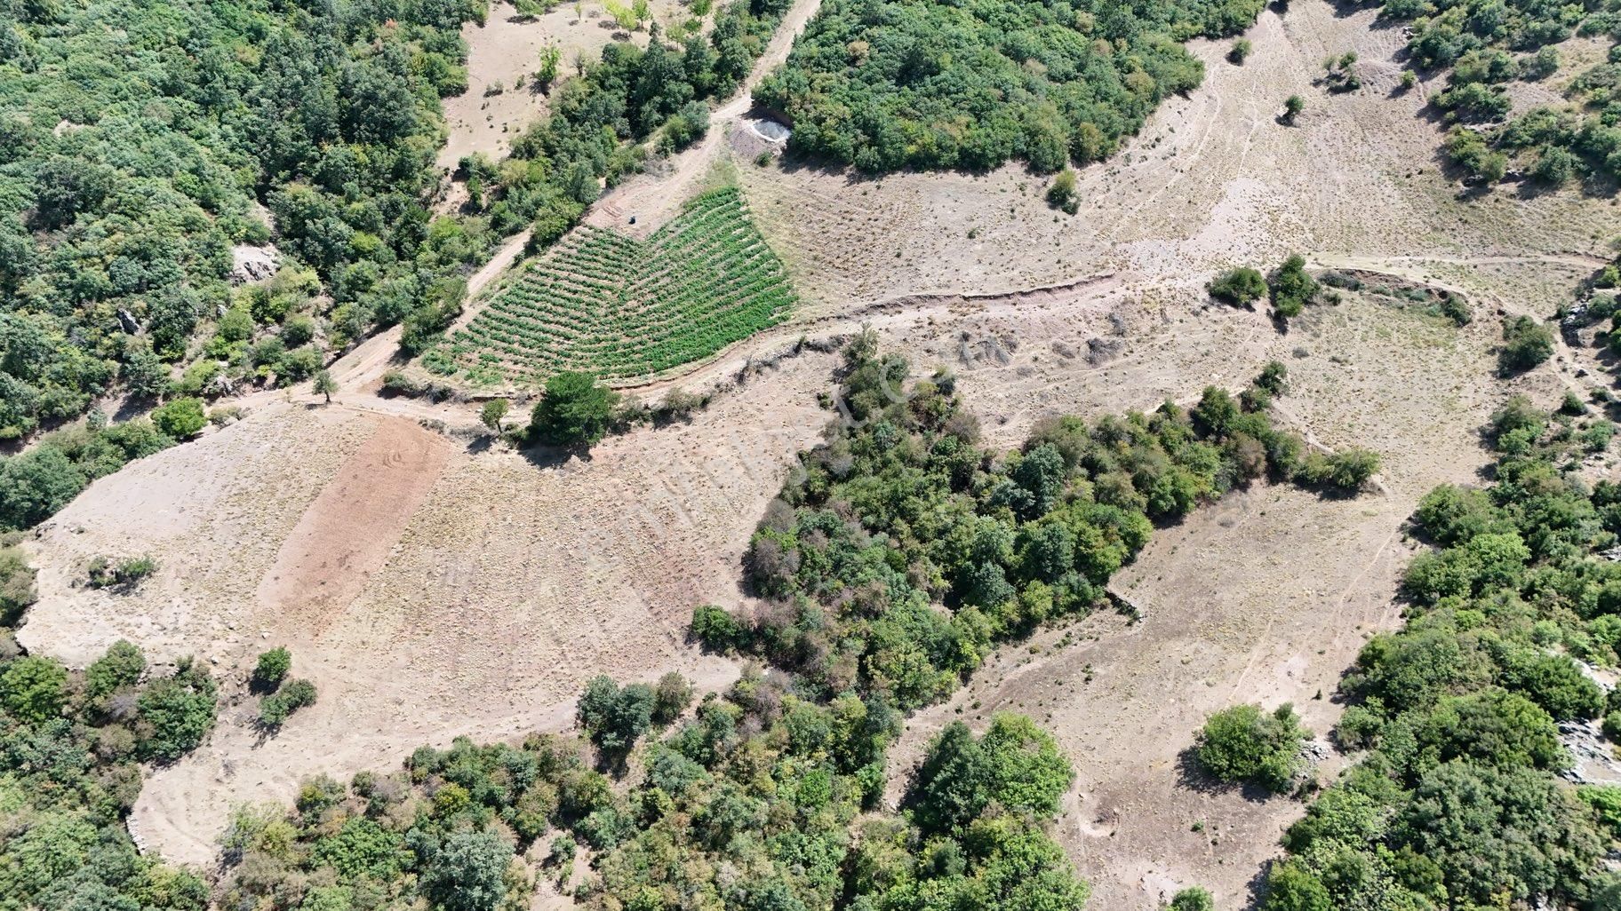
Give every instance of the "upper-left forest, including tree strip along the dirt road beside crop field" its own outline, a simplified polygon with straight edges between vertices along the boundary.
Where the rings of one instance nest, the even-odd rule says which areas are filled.
[[[436,214],[439,97],[465,88],[459,28],[483,0],[0,6],[0,439],[104,396],[164,402],[0,459],[0,528],[381,327],[428,349],[499,237],[554,242],[648,146],[702,135],[704,101],[736,89],[785,8],[738,0],[684,45],[657,26],[647,50],[609,44],[512,159],[464,162],[477,193]],[[232,287],[232,246],[264,243],[280,269]]]

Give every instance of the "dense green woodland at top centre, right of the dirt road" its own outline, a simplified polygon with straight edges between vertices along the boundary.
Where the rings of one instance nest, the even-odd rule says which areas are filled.
[[[866,172],[1037,172],[1109,157],[1204,78],[1178,42],[1245,29],[1261,0],[828,0],[754,92],[791,148]]]

